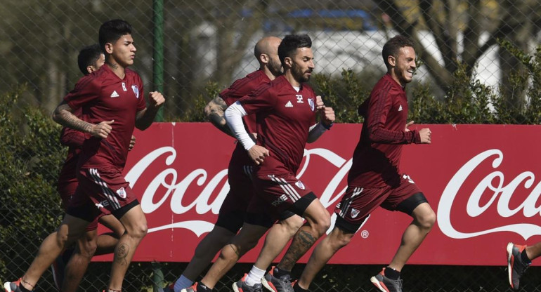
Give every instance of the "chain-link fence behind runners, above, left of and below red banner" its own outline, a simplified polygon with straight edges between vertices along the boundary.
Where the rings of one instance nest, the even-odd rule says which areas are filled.
[[[519,112],[512,121],[523,124],[531,121],[522,113],[532,100],[541,98],[541,91],[531,89],[538,84],[535,77],[541,76],[540,65],[528,58],[536,48],[540,50],[538,0],[179,0],[164,1],[162,6],[160,2],[4,0],[0,9],[0,93],[20,93],[15,110],[30,105],[51,111],[80,76],[76,60],[79,49],[97,42],[98,27],[103,21],[122,18],[134,27],[138,51],[133,69],[143,77],[146,91],[163,88],[167,98],[166,121],[201,121],[202,105],[213,93],[256,69],[252,51],[261,36],[299,32],[306,32],[313,39],[315,71],[320,78],[343,79],[344,70],[350,70],[356,73],[362,88],[369,90],[384,72],[384,42],[394,34],[404,34],[415,40],[422,62],[416,82],[428,84],[426,94],[434,100],[445,102],[452,98],[457,93],[457,82],[466,80],[469,86],[478,80],[479,84],[490,86],[491,98],[502,98],[508,107]],[[155,15],[161,10],[161,15]],[[155,20],[159,19],[163,19],[163,37],[155,35],[159,26]],[[516,51],[504,46],[505,41]],[[155,58],[159,54],[155,49],[161,46],[163,55],[158,56],[164,61],[156,66],[155,59],[161,57]],[[163,68],[163,79],[155,78],[156,67]],[[334,108],[354,112],[358,98],[347,92],[339,94]],[[410,98],[415,100],[415,96]],[[3,138],[17,134],[1,133]],[[32,137],[34,142],[44,144],[41,151],[55,143],[54,139],[47,140],[48,136],[51,135],[41,133]],[[14,145],[28,146],[15,142]],[[20,156],[32,154],[25,152]],[[1,185],[0,191],[0,274],[4,280],[15,279],[30,265],[39,242],[58,224],[61,213],[59,207],[52,207],[56,206],[56,197],[43,201],[35,194],[25,197],[21,191],[22,184],[28,187],[30,182],[34,190],[53,194],[55,190],[47,183],[58,174],[56,164],[29,159],[32,165],[23,161],[25,164],[18,166],[9,164],[8,156],[4,152],[0,164],[3,179],[11,182]],[[40,175],[32,176],[31,171],[26,171],[37,167],[42,168]],[[12,168],[18,168],[14,171],[20,175],[6,177],[6,169]],[[6,203],[6,197],[17,196],[21,197],[16,199],[18,206],[33,208],[18,209]],[[36,201],[44,204],[37,206]],[[18,221],[20,225],[8,226],[8,218],[13,217],[23,218]],[[476,252],[480,251],[464,251],[464,256]],[[302,266],[296,267],[294,274],[298,275]],[[155,281],[153,267],[151,263],[133,263],[126,275],[126,291],[150,289]],[[185,263],[162,265],[165,280],[176,279],[183,267]],[[230,284],[248,269],[248,265],[238,265],[216,288],[229,291]],[[371,291],[367,277],[378,270],[374,266],[330,265],[319,274],[313,291]],[[107,263],[91,263],[82,290],[105,287],[108,271]],[[541,278],[536,277],[539,271],[537,267],[528,271],[528,284],[523,291],[541,290]],[[410,266],[404,270],[403,278],[405,291],[509,290],[503,267]],[[39,291],[53,291],[52,287],[51,274],[46,273]]]

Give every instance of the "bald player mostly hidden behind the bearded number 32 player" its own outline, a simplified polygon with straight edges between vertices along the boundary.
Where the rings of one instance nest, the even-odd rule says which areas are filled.
[[[275,36],[266,36],[260,39],[254,47],[254,55],[259,62],[259,69],[233,82],[229,88],[219,93],[219,96],[211,100],[205,107],[204,111],[207,118],[220,131],[233,135],[223,117],[223,111],[226,110],[228,105],[251,93],[261,84],[266,84],[282,74],[282,65],[278,58],[280,41],[282,40]],[[255,115],[246,116],[244,121],[249,132],[254,133],[256,131]],[[259,238],[263,236],[268,228],[273,226],[274,222],[270,216],[263,213],[247,213],[249,201],[255,192],[250,178],[250,169],[253,166],[254,164],[247,156],[244,148],[237,144],[228,167],[230,191],[220,208],[218,220],[213,230],[195,248],[195,254],[181,277],[174,284],[164,288],[165,292],[179,292],[183,288],[192,286],[195,279],[209,265],[216,253],[237,234],[243,223],[246,226],[243,227],[245,231],[242,234],[247,234],[246,237],[249,239],[242,241],[242,246],[238,247],[238,249],[242,249],[244,253],[254,248]],[[273,241],[273,246],[280,248],[278,253],[303,223],[302,218],[291,212],[284,213],[280,219],[278,224],[273,226],[271,233],[269,233],[271,236],[267,239]],[[265,251],[268,251],[268,249],[266,248]],[[266,255],[264,251],[262,253]],[[271,251],[271,253],[273,254],[274,251]],[[269,255],[269,257],[272,257],[271,261],[278,253]],[[256,268],[252,268],[252,270],[254,269]],[[250,274],[254,278],[254,283],[251,283],[251,286],[254,286],[254,284],[261,286],[261,277],[263,277],[265,270],[260,273],[259,277],[257,273],[252,272]]]

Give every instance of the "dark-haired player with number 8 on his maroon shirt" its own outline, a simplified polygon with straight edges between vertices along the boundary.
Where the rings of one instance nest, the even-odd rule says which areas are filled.
[[[126,229],[115,248],[106,289],[122,291],[124,274],[147,232],[145,214],[122,170],[133,128],[148,128],[165,100],[161,93],[150,92],[147,107],[141,77],[127,68],[133,65],[136,53],[128,22],[104,22],[99,42],[105,65],[96,74],[79,79],[53,113],[53,119],[63,126],[86,133],[78,163],[79,186],[58,230],[41,243],[27,272],[17,281],[4,284],[6,292],[32,291],[63,248],[82,237],[100,212],[115,215]],[[84,120],[72,114],[80,107]]]

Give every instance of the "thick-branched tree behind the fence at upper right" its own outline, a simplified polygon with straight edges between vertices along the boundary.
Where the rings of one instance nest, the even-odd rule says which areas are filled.
[[[452,84],[458,62],[464,62],[468,76],[473,77],[476,62],[488,48],[497,44],[497,39],[508,39],[519,48],[528,48],[528,41],[535,36],[535,21],[541,15],[537,0],[382,0],[377,3],[379,9],[390,16],[396,32],[415,41],[419,58],[444,91]],[[422,46],[420,29],[431,31],[443,65]],[[483,32],[488,34],[486,41],[482,39]],[[504,74],[523,70],[520,62],[505,51],[500,51],[500,65]],[[523,94],[510,93],[505,79],[502,81],[502,93],[509,102],[520,106]]]

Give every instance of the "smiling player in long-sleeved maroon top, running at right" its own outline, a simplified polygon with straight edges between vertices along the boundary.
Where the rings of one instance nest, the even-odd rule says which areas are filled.
[[[383,47],[387,74],[379,79],[370,97],[359,107],[365,117],[360,140],[353,152],[348,187],[334,213],[337,220],[330,234],[315,247],[294,291],[307,291],[328,260],[346,246],[375,208],[400,211],[413,220],[391,263],[370,278],[380,291],[401,292],[400,271],[429,233],[436,214],[409,175],[400,171],[403,144],[429,144],[430,129],[410,130],[406,124],[408,99],[405,86],[415,72],[415,50],[410,39],[395,36]]]

